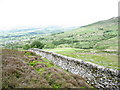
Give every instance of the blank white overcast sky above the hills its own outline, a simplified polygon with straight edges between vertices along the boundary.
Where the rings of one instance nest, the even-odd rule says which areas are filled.
[[[0,30],[82,26],[118,16],[119,0],[0,0]]]

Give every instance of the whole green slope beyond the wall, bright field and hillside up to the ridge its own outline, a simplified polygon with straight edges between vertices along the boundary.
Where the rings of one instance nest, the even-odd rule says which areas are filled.
[[[43,42],[56,45],[54,49],[45,50],[93,62],[107,68],[120,69],[117,17],[69,32],[53,34],[44,39]]]

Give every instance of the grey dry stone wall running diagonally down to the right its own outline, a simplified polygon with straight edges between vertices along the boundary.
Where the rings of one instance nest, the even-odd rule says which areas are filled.
[[[29,49],[57,66],[74,73],[79,74],[86,79],[87,83],[96,88],[119,88],[120,87],[120,71],[105,68],[91,62],[85,62],[81,59],[75,59],[49,51],[37,48]]]

